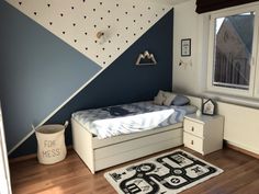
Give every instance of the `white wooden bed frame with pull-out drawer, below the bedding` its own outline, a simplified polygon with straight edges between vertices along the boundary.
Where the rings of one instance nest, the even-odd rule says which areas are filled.
[[[98,139],[74,118],[71,125],[74,149],[92,173],[183,144],[182,123],[108,139]]]

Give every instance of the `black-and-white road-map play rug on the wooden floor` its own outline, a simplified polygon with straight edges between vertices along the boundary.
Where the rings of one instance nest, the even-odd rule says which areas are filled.
[[[120,194],[174,194],[223,170],[177,149],[104,174]]]

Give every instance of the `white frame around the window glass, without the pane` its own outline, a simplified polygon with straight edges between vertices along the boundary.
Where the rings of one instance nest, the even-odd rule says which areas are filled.
[[[250,77],[249,77],[249,89],[235,89],[225,88],[221,85],[214,85],[214,50],[215,50],[215,25],[217,18],[224,18],[235,14],[240,14],[245,12],[255,12],[255,25],[254,25],[254,37],[252,37],[252,52],[250,61]],[[259,72],[258,60],[258,35],[259,35],[259,3],[252,3],[252,5],[241,5],[238,8],[224,9],[221,11],[215,11],[210,14],[210,28],[209,28],[209,57],[207,57],[207,77],[206,77],[206,90],[207,92],[216,92],[229,95],[240,95],[248,98],[259,98],[259,75],[256,78],[256,72]],[[255,89],[258,89],[255,92]]]

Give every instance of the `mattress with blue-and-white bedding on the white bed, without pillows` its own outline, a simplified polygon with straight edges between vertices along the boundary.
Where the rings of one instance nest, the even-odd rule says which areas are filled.
[[[72,118],[99,139],[166,127],[183,121],[195,106],[156,105],[153,101],[79,111]]]

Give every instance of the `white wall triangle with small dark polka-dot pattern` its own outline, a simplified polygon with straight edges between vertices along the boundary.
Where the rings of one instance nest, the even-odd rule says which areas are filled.
[[[101,67],[112,64],[172,8],[154,0],[7,2]]]

